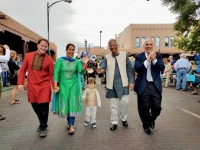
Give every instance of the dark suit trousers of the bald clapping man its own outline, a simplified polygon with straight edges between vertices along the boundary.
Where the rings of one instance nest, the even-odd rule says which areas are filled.
[[[162,110],[162,95],[153,82],[149,82],[142,94],[138,94],[138,112],[144,126],[150,126],[150,123],[160,115]]]

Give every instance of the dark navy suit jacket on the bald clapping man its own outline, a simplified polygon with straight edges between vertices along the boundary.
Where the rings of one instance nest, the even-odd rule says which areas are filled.
[[[160,78],[160,72],[164,70],[165,65],[162,60],[162,54],[156,53],[157,62],[155,65],[151,64],[151,75],[153,82],[160,93],[162,93],[162,82]],[[142,94],[147,86],[147,68],[144,65],[146,60],[145,52],[142,52],[135,56],[135,71],[138,73],[137,79],[135,81],[135,92],[137,94]]]

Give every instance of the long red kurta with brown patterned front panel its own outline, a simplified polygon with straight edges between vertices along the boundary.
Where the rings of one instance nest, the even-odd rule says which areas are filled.
[[[45,103],[51,101],[51,84],[53,85],[53,60],[47,54],[37,52],[26,54],[20,68],[18,85],[24,84],[28,70],[28,101]]]

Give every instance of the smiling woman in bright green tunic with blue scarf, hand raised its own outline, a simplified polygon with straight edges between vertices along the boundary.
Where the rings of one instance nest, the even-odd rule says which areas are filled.
[[[74,57],[75,46],[66,46],[66,57],[57,59],[54,67],[54,112],[59,117],[67,117],[69,133],[74,133],[75,116],[82,112],[81,74],[85,70],[88,58],[83,58],[83,64]]]

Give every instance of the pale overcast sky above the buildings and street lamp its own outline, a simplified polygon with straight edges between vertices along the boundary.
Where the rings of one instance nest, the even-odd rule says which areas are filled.
[[[56,0],[0,0],[0,11],[47,38],[47,2]],[[58,55],[73,43],[84,47],[107,47],[107,41],[131,23],[174,23],[176,15],[160,0],[72,0],[59,2],[50,9],[50,41],[55,42]]]

